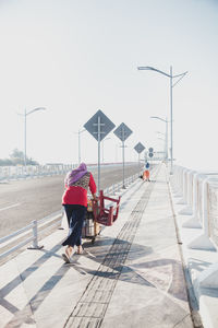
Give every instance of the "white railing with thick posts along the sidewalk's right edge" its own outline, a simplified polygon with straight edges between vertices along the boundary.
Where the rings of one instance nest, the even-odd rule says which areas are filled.
[[[183,206],[178,214],[186,215],[182,227],[198,231],[187,248],[217,251],[218,172],[196,172],[175,166],[170,177],[170,186],[174,204]],[[210,279],[211,286],[218,288],[218,260],[202,273],[204,278],[201,283]]]

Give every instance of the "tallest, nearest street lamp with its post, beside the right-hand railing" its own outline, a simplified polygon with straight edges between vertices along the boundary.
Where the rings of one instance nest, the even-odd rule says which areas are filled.
[[[181,73],[181,74],[177,74],[177,75],[173,75],[172,74],[172,67],[170,66],[170,73],[165,73],[160,70],[157,70],[156,68],[154,67],[149,67],[149,66],[146,66],[146,67],[137,67],[137,69],[141,71],[141,70],[150,70],[150,71],[155,71],[155,72],[158,72],[162,75],[166,75],[168,78],[170,78],[170,137],[171,137],[171,147],[170,147],[170,160],[171,160],[171,167],[170,167],[170,174],[173,173],[173,149],[172,149],[172,144],[173,144],[173,140],[172,140],[172,120],[173,120],[173,117],[172,117],[172,87],[175,86],[175,84],[178,84],[182,78],[184,78],[184,75],[187,73],[184,72],[184,73]],[[173,80],[174,78],[179,78],[179,80],[177,80],[177,82],[173,84]]]

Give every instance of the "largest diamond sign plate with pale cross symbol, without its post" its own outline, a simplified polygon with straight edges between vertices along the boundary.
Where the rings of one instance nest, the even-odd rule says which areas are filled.
[[[100,126],[100,141],[116,127],[113,122],[99,109],[84,128],[98,141],[98,125]]]

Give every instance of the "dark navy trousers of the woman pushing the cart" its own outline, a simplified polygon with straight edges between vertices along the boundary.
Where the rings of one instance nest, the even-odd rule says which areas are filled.
[[[82,229],[86,214],[86,207],[80,204],[64,204],[65,214],[69,222],[69,235],[62,243],[63,246],[82,245]]]

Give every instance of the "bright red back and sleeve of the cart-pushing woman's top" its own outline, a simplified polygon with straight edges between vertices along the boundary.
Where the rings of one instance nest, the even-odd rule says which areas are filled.
[[[92,173],[89,173],[88,187],[92,194],[96,194],[96,184]],[[62,204],[81,204],[87,207],[87,190],[80,186],[65,186],[62,196]]]

